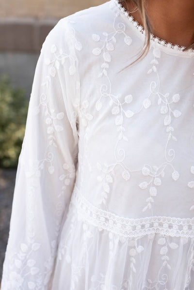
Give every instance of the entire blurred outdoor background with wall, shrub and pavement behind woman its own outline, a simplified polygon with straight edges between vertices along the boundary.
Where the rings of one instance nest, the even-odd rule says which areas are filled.
[[[0,0],[0,280],[40,49],[59,19],[106,0]]]

